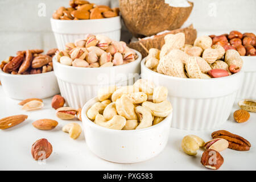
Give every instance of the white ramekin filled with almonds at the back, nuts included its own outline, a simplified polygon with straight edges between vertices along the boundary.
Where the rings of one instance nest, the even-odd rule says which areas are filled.
[[[119,41],[121,18],[119,9],[95,5],[88,1],[70,1],[70,7],[59,7],[51,18],[52,31],[57,48],[65,43],[83,39],[86,34],[102,34]]]

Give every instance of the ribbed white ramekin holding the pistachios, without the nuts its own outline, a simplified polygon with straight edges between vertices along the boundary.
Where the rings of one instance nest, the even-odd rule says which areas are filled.
[[[135,50],[134,50],[135,51]],[[67,104],[81,108],[86,101],[97,96],[98,89],[109,85],[132,85],[141,71],[141,53],[138,59],[124,65],[107,68],[78,68],[57,62],[53,57],[53,68],[60,87],[60,93]]]

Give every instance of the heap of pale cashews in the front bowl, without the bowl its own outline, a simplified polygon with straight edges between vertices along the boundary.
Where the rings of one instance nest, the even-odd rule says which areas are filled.
[[[99,101],[88,109],[86,115],[97,125],[108,129],[144,129],[162,122],[172,112],[167,95],[167,88],[155,88],[154,83],[144,79],[134,85],[109,86],[98,91]],[[149,96],[152,96],[151,100]]]

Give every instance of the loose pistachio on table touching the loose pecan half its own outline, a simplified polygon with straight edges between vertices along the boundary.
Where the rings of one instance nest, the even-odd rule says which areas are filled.
[[[225,150],[229,147],[229,142],[223,138],[215,138],[204,144],[205,150],[213,149],[218,152]]]

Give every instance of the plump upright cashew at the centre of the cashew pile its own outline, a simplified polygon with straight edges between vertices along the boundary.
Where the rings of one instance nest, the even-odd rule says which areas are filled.
[[[127,95],[123,95],[121,98],[118,98],[115,101],[115,108],[117,109],[117,113],[122,115],[128,120],[137,119],[137,114],[135,113],[135,106],[133,105],[133,101]]]

